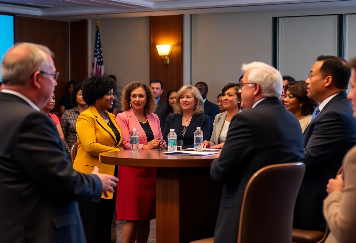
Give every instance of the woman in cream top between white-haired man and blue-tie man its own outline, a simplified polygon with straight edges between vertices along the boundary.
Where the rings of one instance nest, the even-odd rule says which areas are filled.
[[[284,86],[284,107],[298,118],[302,132],[308,127],[314,109],[318,102],[307,96],[307,84],[305,81],[287,82]]]

